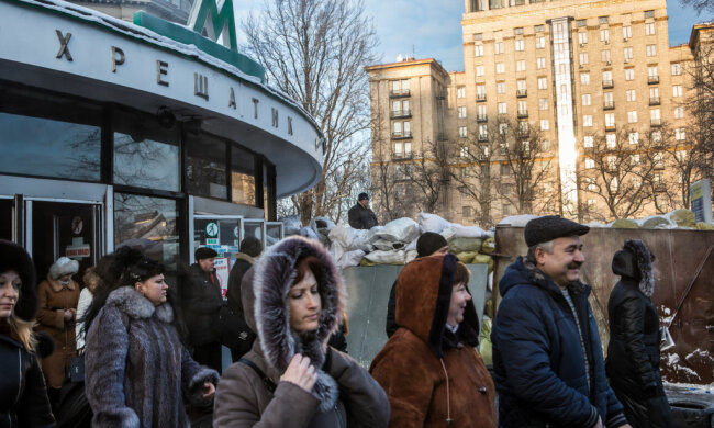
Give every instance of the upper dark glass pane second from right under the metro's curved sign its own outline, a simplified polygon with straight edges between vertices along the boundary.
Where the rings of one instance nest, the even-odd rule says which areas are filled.
[[[186,187],[201,196],[227,199],[225,143],[205,134],[187,138]]]

